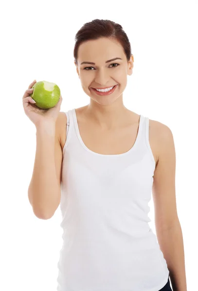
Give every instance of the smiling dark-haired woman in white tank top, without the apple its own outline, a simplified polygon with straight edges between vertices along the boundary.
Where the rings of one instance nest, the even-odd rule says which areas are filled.
[[[134,57],[122,26],[95,19],[76,34],[74,64],[86,106],[41,110],[28,197],[49,219],[60,205],[63,247],[58,291],[186,291],[171,130],[123,104]],[[107,88],[107,90],[103,90]],[[149,227],[151,188],[156,235]],[[174,291],[173,290],[173,291]]]

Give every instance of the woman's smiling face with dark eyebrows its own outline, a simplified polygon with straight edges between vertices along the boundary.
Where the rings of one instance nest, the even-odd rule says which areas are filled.
[[[108,60],[120,58],[106,63]],[[84,64],[81,64],[86,62]],[[95,64],[88,64],[92,62]],[[122,96],[127,75],[132,74],[133,56],[127,62],[123,47],[106,37],[82,43],[78,49],[76,70],[84,92],[100,104],[109,104]],[[110,95],[100,96],[92,88],[117,85]]]

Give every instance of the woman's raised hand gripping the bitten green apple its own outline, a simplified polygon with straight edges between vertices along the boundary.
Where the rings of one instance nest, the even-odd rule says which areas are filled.
[[[32,94],[34,91],[34,88],[32,87],[35,83],[36,81],[33,81],[29,85],[28,89],[25,91],[22,98],[25,114],[35,124],[36,127],[48,121],[55,123],[58,117],[58,113],[60,111],[60,105],[62,103],[62,96],[60,95],[60,99],[58,103],[53,108],[41,109],[34,104],[33,98],[30,97],[30,94]]]

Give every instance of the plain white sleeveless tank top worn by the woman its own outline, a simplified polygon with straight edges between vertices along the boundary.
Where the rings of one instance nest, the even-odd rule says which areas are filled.
[[[159,291],[169,270],[148,225],[155,170],[148,117],[140,115],[130,150],[103,155],[85,146],[75,109],[66,114],[57,291]]]

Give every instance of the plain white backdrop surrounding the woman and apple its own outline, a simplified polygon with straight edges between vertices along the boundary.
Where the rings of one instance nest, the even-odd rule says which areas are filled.
[[[22,96],[36,81],[61,89],[60,111],[87,105],[73,59],[84,23],[123,26],[134,55],[124,104],[167,125],[176,147],[177,210],[187,290],[198,289],[198,7],[197,1],[18,0],[0,4],[0,290],[55,291],[62,248],[61,213],[38,219],[28,200],[36,128]],[[155,231],[153,200],[150,226]]]

